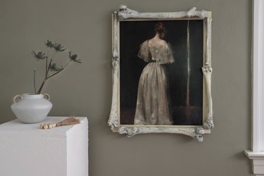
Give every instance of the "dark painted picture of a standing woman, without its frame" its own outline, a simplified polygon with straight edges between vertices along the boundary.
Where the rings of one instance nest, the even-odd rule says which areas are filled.
[[[120,21],[121,125],[203,124],[203,26]]]

